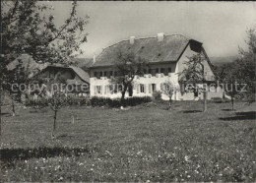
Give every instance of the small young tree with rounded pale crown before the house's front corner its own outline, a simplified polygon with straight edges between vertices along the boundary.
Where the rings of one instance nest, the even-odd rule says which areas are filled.
[[[168,109],[171,110],[172,95],[175,94],[176,91],[179,91],[179,88],[175,84],[173,84],[171,81],[165,81],[164,83],[162,83],[161,88],[162,88],[161,89],[162,93],[164,93],[169,97]]]

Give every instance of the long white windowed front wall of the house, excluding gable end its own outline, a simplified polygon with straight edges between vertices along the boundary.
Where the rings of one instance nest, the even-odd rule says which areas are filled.
[[[159,72],[161,71],[161,68],[168,69],[171,68],[168,71],[165,71],[164,73],[157,73],[154,75],[153,71],[156,71],[156,69],[159,69]],[[145,74],[144,76],[135,76],[134,78],[134,87],[133,87],[133,96],[152,96],[154,91],[160,91],[160,84],[170,81],[173,84],[178,85],[178,75],[177,75],[177,67],[176,62],[170,62],[170,63],[163,63],[163,64],[152,64],[148,68],[152,70],[152,74]],[[105,71],[110,72],[111,68],[95,68],[91,70],[91,76],[94,76],[95,72],[102,72]],[[106,77],[100,77],[100,79],[97,79],[96,77],[91,77],[90,79],[90,89],[91,89],[91,96],[101,96],[101,97],[121,97],[121,92],[111,92],[109,91],[109,85],[111,84],[111,79],[108,79]],[[110,87],[111,88],[111,87]],[[129,92],[126,92],[126,97],[129,97]],[[163,95],[163,98],[166,98],[167,96]],[[176,96],[173,95],[173,99],[175,99]],[[178,98],[176,98],[178,99]]]

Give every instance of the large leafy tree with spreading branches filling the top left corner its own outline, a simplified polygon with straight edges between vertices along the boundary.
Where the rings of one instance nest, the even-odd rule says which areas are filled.
[[[37,1],[1,1],[0,91],[10,86],[8,64],[22,54],[37,63],[64,63],[83,53],[80,45],[87,41],[85,26],[89,17],[77,17],[77,2],[69,17],[57,27],[52,7]]]

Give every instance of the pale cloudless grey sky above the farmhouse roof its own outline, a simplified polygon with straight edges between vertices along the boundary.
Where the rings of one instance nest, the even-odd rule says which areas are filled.
[[[71,2],[53,5],[57,24],[68,17]],[[208,56],[238,54],[246,48],[246,30],[256,28],[255,2],[94,2],[80,1],[78,16],[90,16],[88,42],[82,57],[98,55],[102,48],[130,36],[148,37],[181,33],[203,42]]]

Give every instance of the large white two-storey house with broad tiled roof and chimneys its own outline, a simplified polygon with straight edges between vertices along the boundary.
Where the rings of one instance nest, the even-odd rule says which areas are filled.
[[[204,59],[204,72],[207,81],[215,80],[210,60],[206,54],[203,44],[197,40],[188,38],[182,34],[164,35],[158,33],[157,37],[135,38],[131,36],[128,40],[122,40],[105,49],[94,59],[90,68],[90,89],[91,96],[99,97],[120,97],[121,92],[118,86],[111,80],[116,76],[117,70],[114,63],[118,60],[116,52],[132,52],[149,62],[143,76],[135,76],[133,88],[128,90],[129,96],[152,96],[155,91],[161,90],[162,83],[171,82],[181,88],[178,73],[182,72],[191,57],[201,53]],[[219,95],[219,94],[216,94]],[[198,97],[202,98],[199,93]],[[194,92],[177,91],[172,95],[174,100],[194,99]],[[162,95],[167,99],[167,95]],[[209,94],[211,98],[211,94]]]

